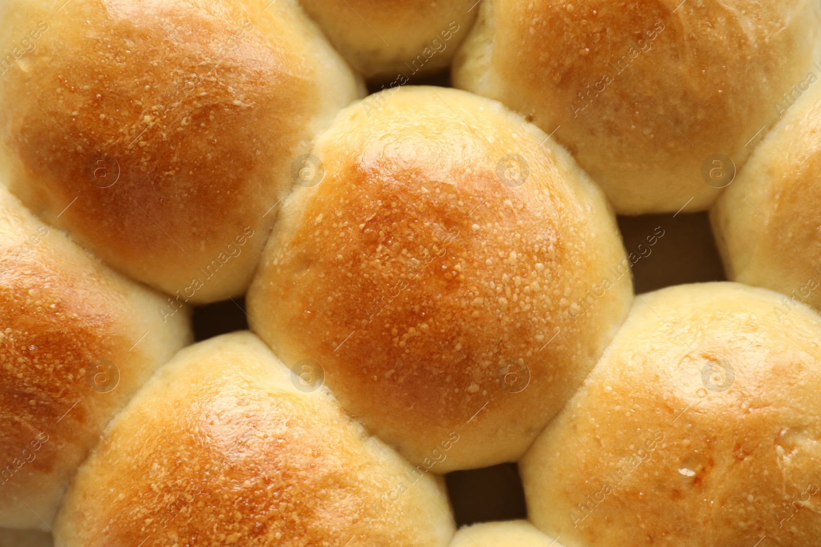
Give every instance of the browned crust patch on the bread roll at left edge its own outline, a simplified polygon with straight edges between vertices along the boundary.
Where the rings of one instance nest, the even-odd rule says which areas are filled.
[[[24,253],[7,248],[0,255],[0,462],[34,458],[22,475],[66,475],[104,425],[94,420],[99,403],[85,372],[97,359],[117,360],[126,344],[116,317],[123,302],[94,286],[77,287],[43,258]],[[84,298],[89,293],[96,298]],[[84,404],[58,424],[77,401]],[[30,492],[32,485],[14,476],[21,467],[3,477],[2,497]]]

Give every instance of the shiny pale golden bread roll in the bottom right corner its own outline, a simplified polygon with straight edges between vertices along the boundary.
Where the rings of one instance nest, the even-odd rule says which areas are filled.
[[[736,283],[636,297],[520,463],[567,547],[819,545],[821,317]]]

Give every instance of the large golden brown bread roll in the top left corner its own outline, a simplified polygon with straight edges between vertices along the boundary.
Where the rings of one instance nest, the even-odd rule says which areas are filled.
[[[350,69],[292,1],[64,2],[0,7],[12,192],[179,302],[242,294]]]

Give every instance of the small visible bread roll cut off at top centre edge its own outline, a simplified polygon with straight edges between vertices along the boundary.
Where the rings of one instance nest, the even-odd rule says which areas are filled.
[[[402,85],[450,66],[476,0],[300,0],[351,66],[372,81]]]

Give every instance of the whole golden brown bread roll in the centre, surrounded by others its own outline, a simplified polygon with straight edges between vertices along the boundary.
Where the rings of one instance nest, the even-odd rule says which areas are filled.
[[[412,463],[515,461],[626,317],[603,194],[501,104],[404,87],[319,136],[324,178],[282,206],[247,296],[288,366],[310,359]],[[455,438],[458,438],[456,442]]]

